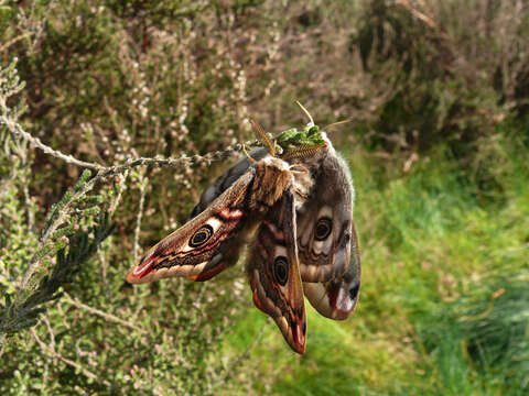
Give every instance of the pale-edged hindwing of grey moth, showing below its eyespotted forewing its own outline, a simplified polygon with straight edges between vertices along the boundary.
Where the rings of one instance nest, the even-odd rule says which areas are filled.
[[[360,297],[360,252],[355,224],[352,232],[350,263],[346,272],[326,283],[303,283],[303,290],[311,305],[330,319],[347,319]]]

